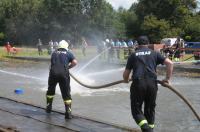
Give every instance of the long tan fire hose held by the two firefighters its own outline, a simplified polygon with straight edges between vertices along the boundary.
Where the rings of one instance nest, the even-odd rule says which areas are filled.
[[[107,83],[104,85],[99,85],[99,86],[91,86],[91,85],[87,85],[84,84],[83,82],[79,81],[74,75],[72,75],[70,73],[70,76],[76,81],[78,82],[80,85],[90,88],[90,89],[101,89],[101,88],[105,88],[105,87],[110,87],[113,85],[117,85],[120,83],[124,83],[124,80],[119,80],[119,81],[115,81],[115,82],[111,82],[111,83]],[[130,80],[131,81],[131,80]],[[196,110],[194,109],[194,107],[192,106],[192,104],[189,102],[188,99],[186,99],[179,91],[176,90],[176,88],[172,87],[171,85],[169,85],[168,83],[164,83],[160,80],[157,80],[157,82],[159,84],[161,84],[163,87],[170,89],[172,92],[174,92],[176,95],[178,95],[178,97],[180,97],[187,105],[188,107],[192,110],[192,112],[194,113],[194,115],[196,116],[196,118],[198,119],[198,121],[200,121],[200,116],[198,115],[198,113],[196,112]]]

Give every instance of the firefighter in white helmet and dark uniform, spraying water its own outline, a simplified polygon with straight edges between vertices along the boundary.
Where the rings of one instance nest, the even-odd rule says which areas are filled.
[[[48,90],[46,93],[46,112],[50,113],[52,110],[52,102],[55,95],[56,85],[59,83],[60,91],[65,104],[65,119],[72,118],[69,69],[77,64],[77,60],[68,50],[68,46],[69,44],[65,40],[60,41],[58,49],[51,55]]]

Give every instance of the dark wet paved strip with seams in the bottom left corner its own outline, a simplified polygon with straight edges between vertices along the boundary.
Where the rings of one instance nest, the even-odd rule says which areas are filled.
[[[0,105],[0,116],[3,119],[0,124],[6,126],[9,123],[14,126],[12,130],[20,132],[136,132],[78,116],[65,120],[62,112],[52,111],[47,114],[41,107],[5,98],[0,98]]]

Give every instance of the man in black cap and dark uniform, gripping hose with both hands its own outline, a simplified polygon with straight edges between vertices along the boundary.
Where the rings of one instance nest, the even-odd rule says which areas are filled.
[[[130,87],[131,112],[142,132],[153,132],[155,120],[155,106],[157,96],[156,67],[165,64],[167,68],[166,78],[169,83],[173,71],[173,63],[164,58],[159,52],[148,48],[147,36],[138,38],[138,49],[132,53],[127,61],[123,73],[124,82],[128,83],[132,71],[132,84]],[[144,103],[144,112],[142,105]]]

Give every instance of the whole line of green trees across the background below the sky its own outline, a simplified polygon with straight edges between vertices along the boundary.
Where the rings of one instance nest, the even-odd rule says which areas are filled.
[[[35,45],[38,38],[70,40],[81,37],[135,39],[148,35],[152,43],[181,36],[200,41],[196,0],[138,0],[130,9],[114,9],[106,0],[1,0],[0,43]]]

